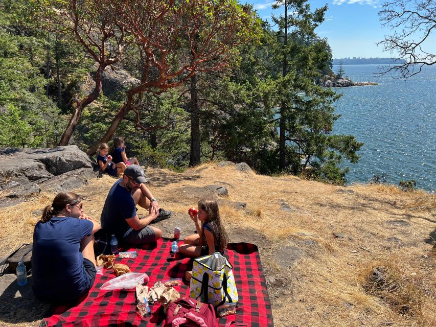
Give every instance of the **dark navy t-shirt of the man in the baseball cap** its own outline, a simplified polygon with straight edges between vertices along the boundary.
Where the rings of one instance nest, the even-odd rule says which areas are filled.
[[[122,240],[130,229],[126,219],[136,216],[132,193],[120,185],[122,181],[119,179],[112,185],[100,217],[102,228],[109,235],[114,234],[118,240]]]

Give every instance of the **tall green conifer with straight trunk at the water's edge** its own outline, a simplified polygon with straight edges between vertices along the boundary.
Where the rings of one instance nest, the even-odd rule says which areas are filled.
[[[283,5],[283,1],[277,1],[274,6]],[[277,117],[285,129],[284,170],[342,184],[348,171],[340,168],[342,159],[357,162],[356,152],[362,143],[352,135],[332,134],[339,118],[333,103],[339,96],[314,83],[321,73],[331,69],[331,48],[314,32],[324,21],[326,10],[324,6],[312,12],[307,1],[302,0],[287,3],[287,17],[273,17],[280,28],[277,42],[283,42],[275,58],[286,72],[274,79],[278,86],[276,103],[280,105]]]

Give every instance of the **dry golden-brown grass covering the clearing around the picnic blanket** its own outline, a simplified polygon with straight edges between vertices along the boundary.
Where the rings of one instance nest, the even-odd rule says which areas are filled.
[[[436,325],[436,252],[429,244],[436,233],[434,195],[402,192],[392,185],[343,188],[292,176],[241,173],[214,164],[182,174],[148,169],[147,175],[160,205],[181,216],[199,200],[183,199],[183,188],[220,181],[230,184],[225,185],[230,202],[220,207],[221,216],[230,235],[241,229],[266,240],[260,246],[264,271],[281,283],[269,285],[277,326]],[[153,181],[156,176],[159,180]],[[112,183],[104,176],[75,190],[85,197],[84,208],[91,217],[100,216]],[[0,210],[1,253],[31,241],[37,221],[31,213],[52,198],[43,194]],[[246,202],[246,210],[236,210],[232,201]],[[280,211],[282,201],[293,211]],[[333,232],[345,237],[336,238]],[[287,245],[300,247],[304,255],[284,270],[270,253]],[[392,281],[382,290],[389,296],[371,288],[369,275],[377,266],[386,267],[386,280]],[[398,310],[401,303],[409,309]]]

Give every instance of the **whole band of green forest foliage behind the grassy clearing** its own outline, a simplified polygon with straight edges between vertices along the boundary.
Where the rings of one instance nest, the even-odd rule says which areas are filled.
[[[124,6],[121,1],[104,3]],[[334,123],[339,118],[334,103],[340,96],[315,84],[322,76],[333,74],[331,48],[326,39],[319,38],[314,32],[324,20],[326,6],[312,11],[305,0],[288,3],[285,44],[285,17],[273,17],[280,29],[273,31],[253,15],[250,6],[239,6],[233,0],[214,2],[213,6],[202,0],[195,4],[191,1],[189,6],[178,3],[173,8],[167,8],[165,2],[158,0],[153,0],[154,7],[144,7],[141,3],[145,0],[131,3],[131,9],[141,17],[154,14],[155,9],[151,8],[166,8],[168,17],[174,19],[188,14],[203,17],[198,22],[201,28],[196,27],[199,33],[192,39],[198,46],[197,52],[209,51],[223,40],[228,41],[221,49],[227,52],[225,62],[218,64],[214,57],[196,69],[201,162],[244,161],[259,173],[287,172],[334,184],[345,182],[348,168],[343,161],[357,162],[362,143],[353,135],[333,134]],[[283,4],[283,1],[277,2],[277,6]],[[49,39],[48,33],[39,29],[48,22],[40,17],[53,18],[51,27],[55,30],[61,27],[65,23],[63,16],[53,8],[65,9],[70,5],[61,0],[17,0],[0,4],[3,6],[0,12],[0,146],[56,145],[67,119],[75,110],[74,99],[83,98],[93,89],[92,72],[96,60],[91,56],[93,52],[98,53],[98,46],[93,45],[92,40],[84,39],[86,33],[81,37],[82,41],[90,41],[90,51],[83,50],[83,42],[72,30],[51,32]],[[97,8],[94,2],[86,2],[86,5],[90,10],[78,8],[81,21],[98,34],[96,27],[102,17],[98,13],[102,8]],[[112,11],[109,15],[116,18],[116,13]],[[222,20],[221,15],[228,13],[231,13],[230,20]],[[223,38],[222,30],[209,35],[215,19],[222,21],[226,28],[236,22],[240,25],[239,32],[229,40]],[[140,23],[137,28],[147,28],[147,20]],[[168,27],[173,26],[174,21],[165,18],[159,24]],[[114,31],[119,37],[121,30],[117,27]],[[178,35],[177,38],[173,30],[166,29],[164,34],[153,36],[155,44],[168,46],[171,50],[166,54],[170,72],[177,72],[192,56],[189,38]],[[149,80],[158,77],[158,66],[150,65],[147,69],[144,66],[147,58],[144,54],[149,51],[157,60],[162,59],[158,47],[139,42],[141,40],[135,39],[132,33],[126,33],[125,37],[124,56],[118,65],[140,80],[144,74],[148,74]],[[208,37],[212,37],[211,43],[206,42]],[[253,40],[246,42],[249,38]],[[105,42],[107,58],[116,54],[115,43],[112,38]],[[144,46],[149,47],[147,51]],[[177,49],[179,52],[175,52]],[[286,69],[283,69],[284,65]],[[60,81],[57,80],[57,69]],[[212,71],[204,72],[210,69]],[[152,87],[152,92],[144,92],[140,105],[123,117],[116,136],[125,139],[128,156],[174,170],[188,166],[190,85],[176,87],[183,78],[184,74],[174,75],[168,80],[167,83],[174,83],[173,88],[161,89],[162,84]],[[55,105],[58,82],[61,85],[60,108]],[[71,142],[83,150],[98,142],[125,101],[123,91],[100,94],[83,110]],[[282,106],[286,110],[281,113]],[[286,141],[286,167],[283,170],[279,169],[280,126],[284,126]]]

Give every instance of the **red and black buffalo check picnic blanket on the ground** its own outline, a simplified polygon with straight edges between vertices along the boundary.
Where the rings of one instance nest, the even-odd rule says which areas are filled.
[[[184,278],[185,272],[192,270],[193,259],[181,256],[170,256],[170,239],[160,239],[156,243],[144,245],[136,249],[135,259],[120,259],[115,263],[123,263],[132,272],[145,272],[150,277],[147,286],[152,287],[157,281],[170,278]],[[179,242],[182,243],[181,241]],[[128,249],[126,249],[128,250]],[[133,249],[130,249],[133,250]],[[239,307],[236,315],[217,319],[218,327],[231,326],[272,327],[272,313],[265,277],[256,245],[249,243],[228,244],[226,256],[233,265],[233,272],[238,289]],[[41,326],[164,326],[165,314],[159,303],[150,305],[150,316],[141,317],[136,312],[135,290],[103,291],[105,282],[114,278],[112,269],[104,270],[103,275],[97,275],[96,282],[87,296],[74,306],[52,307]],[[189,282],[183,279],[183,284],[175,289],[181,297],[189,296]]]

